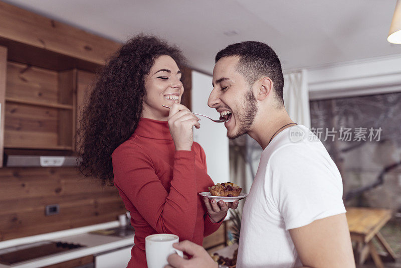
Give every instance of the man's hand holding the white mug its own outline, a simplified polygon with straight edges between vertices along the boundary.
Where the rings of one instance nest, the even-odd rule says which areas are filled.
[[[192,258],[183,259],[177,254],[171,254],[167,258],[170,265],[164,268],[218,268],[219,266],[202,246],[191,241],[185,240],[172,246],[192,255]]]

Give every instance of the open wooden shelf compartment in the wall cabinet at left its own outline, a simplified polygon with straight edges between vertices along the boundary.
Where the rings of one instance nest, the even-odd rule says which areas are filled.
[[[4,148],[74,150],[77,70],[7,61]]]

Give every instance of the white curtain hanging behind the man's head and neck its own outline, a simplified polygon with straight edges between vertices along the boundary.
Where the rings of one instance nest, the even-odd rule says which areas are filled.
[[[284,106],[291,119],[310,128],[307,70],[284,75],[283,98]]]

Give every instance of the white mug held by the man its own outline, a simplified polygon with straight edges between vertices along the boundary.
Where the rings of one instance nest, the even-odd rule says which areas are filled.
[[[146,262],[148,268],[163,268],[167,257],[173,253],[183,256],[182,251],[172,247],[178,236],[170,233],[156,233],[145,237]]]

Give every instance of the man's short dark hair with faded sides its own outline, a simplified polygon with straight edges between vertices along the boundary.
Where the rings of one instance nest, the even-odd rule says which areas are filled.
[[[237,71],[244,75],[250,86],[263,76],[270,77],[273,81],[276,97],[284,105],[283,71],[281,70],[280,59],[271,47],[256,41],[232,44],[217,53],[216,62],[223,57],[231,56],[240,58]]]

